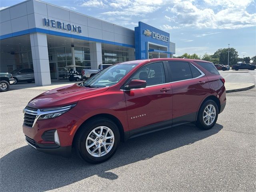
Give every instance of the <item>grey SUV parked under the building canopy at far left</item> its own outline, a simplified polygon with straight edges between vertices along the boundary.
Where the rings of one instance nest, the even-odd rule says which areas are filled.
[[[13,70],[11,74],[15,80],[14,84],[17,84],[18,82],[31,83],[35,80],[33,69],[16,69]]]

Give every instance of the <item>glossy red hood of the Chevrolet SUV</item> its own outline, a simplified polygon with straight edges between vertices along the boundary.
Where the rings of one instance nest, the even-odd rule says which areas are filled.
[[[68,85],[46,91],[36,96],[28,103],[28,106],[32,108],[54,108],[65,106],[78,102],[80,98],[99,94],[106,90],[108,90],[108,87],[88,88],[78,86],[78,84]]]

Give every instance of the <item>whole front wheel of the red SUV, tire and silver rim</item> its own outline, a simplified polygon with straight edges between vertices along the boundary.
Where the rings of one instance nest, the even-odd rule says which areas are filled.
[[[75,148],[83,160],[102,163],[111,158],[120,142],[120,133],[108,118],[94,118],[86,122],[76,135]]]

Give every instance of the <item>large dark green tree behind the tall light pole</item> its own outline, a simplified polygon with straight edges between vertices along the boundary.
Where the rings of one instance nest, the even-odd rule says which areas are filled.
[[[228,48],[218,49],[212,56],[213,58],[219,58],[220,64],[228,64]],[[229,49],[229,64],[237,64],[238,52],[235,48]]]

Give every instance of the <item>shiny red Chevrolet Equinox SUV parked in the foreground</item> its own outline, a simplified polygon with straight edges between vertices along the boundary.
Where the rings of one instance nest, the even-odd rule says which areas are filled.
[[[224,82],[214,64],[202,60],[123,62],[32,99],[23,132],[38,151],[69,156],[74,148],[100,163],[120,140],[189,122],[212,128],[226,105]]]

